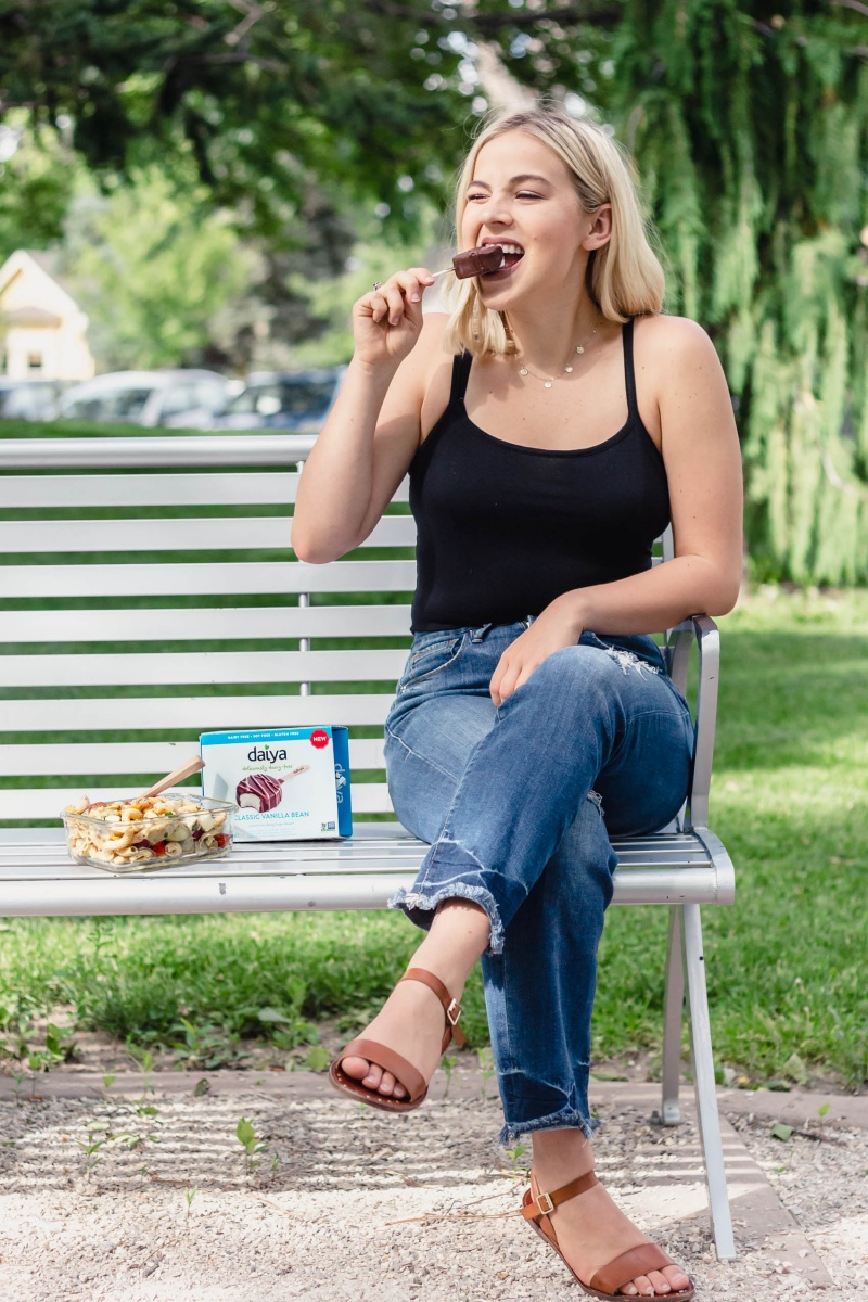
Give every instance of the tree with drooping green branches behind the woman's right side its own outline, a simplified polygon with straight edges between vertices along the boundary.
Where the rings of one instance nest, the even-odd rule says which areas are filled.
[[[868,579],[868,7],[627,0],[599,102],[737,396],[759,577]]]

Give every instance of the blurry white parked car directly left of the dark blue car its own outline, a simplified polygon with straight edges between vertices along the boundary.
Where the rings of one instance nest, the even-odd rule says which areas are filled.
[[[59,415],[197,428],[211,423],[230,392],[232,381],[216,371],[113,371],[68,389]]]

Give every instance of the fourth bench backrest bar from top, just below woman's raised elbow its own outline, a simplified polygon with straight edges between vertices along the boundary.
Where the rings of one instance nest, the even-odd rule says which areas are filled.
[[[212,596],[220,592],[411,592],[415,561],[0,565],[0,598]]]

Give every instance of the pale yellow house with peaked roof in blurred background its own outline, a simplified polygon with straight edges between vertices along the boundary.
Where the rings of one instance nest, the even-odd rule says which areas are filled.
[[[46,254],[18,249],[0,267],[0,376],[90,380],[87,316],[47,263]]]

